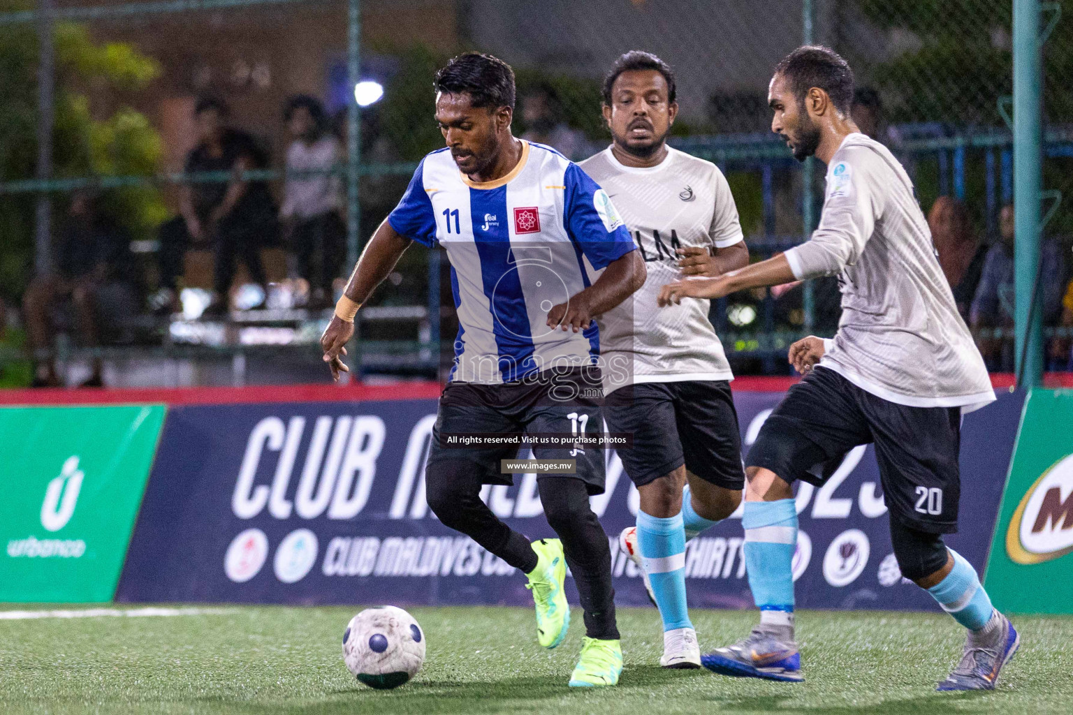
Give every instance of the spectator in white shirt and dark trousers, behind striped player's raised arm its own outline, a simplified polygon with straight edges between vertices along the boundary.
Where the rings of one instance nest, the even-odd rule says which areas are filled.
[[[327,131],[324,107],[315,99],[305,94],[292,98],[283,120],[293,138],[286,151],[289,173],[327,170],[339,161],[339,141]],[[327,308],[334,303],[332,281],[347,252],[346,227],[339,218],[339,177],[288,176],[283,193],[280,218],[298,259],[298,274],[309,282],[309,308]]]

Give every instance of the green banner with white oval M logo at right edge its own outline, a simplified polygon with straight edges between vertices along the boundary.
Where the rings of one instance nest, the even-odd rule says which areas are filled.
[[[1025,403],[985,586],[1002,611],[1073,613],[1071,390]]]

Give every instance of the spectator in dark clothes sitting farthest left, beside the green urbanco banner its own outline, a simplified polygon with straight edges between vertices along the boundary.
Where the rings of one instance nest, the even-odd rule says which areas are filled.
[[[86,193],[71,197],[58,232],[56,272],[35,278],[26,289],[23,310],[31,351],[53,346],[53,317],[59,308],[73,308],[78,337],[86,347],[101,344],[102,328],[118,328],[137,311],[130,239],[97,204]],[[54,359],[38,361],[34,357],[34,361],[33,386],[57,386]],[[94,356],[92,374],[83,387],[103,385],[101,368],[100,356]]]

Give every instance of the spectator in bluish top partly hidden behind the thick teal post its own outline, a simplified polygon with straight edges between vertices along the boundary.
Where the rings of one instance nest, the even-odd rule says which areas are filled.
[[[1014,340],[981,338],[979,331],[988,328],[1014,327],[1014,213],[1013,206],[1003,206],[999,214],[999,240],[987,251],[980,286],[972,300],[970,325],[978,333],[976,342],[987,369],[1012,372],[1014,370]],[[1045,325],[1052,324],[1061,308],[1062,278],[1065,274],[1061,251],[1054,239],[1044,239],[1040,260],[1040,294],[1037,310]]]

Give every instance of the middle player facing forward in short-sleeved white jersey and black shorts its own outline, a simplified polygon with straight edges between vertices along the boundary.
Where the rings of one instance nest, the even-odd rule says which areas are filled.
[[[614,141],[580,166],[615,197],[648,267],[645,285],[599,318],[612,368],[604,372],[604,418],[611,432],[632,435],[632,447],[618,452],[641,496],[636,526],[619,538],[660,609],[660,665],[700,668],[686,605],[686,541],[741,501],[733,374],[708,300],[652,307],[665,283],[740,268],[749,251],[719,168],[666,145],[678,110],[671,68],[633,50],[615,62],[603,89]]]

